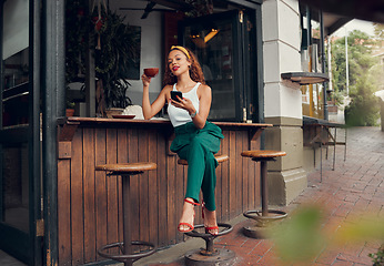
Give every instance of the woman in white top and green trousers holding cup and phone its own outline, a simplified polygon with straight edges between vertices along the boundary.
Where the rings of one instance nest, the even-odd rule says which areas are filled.
[[[224,136],[219,126],[206,121],[210,113],[212,93],[205,84],[203,71],[195,55],[183,47],[172,47],[165,68],[165,86],[151,104],[149,85],[151,78],[142,75],[143,115],[151,119],[168,102],[168,113],[174,126],[175,139],[171,151],[189,163],[186,192],[183,213],[178,229],[191,232],[194,226],[194,206],[199,204],[200,190],[203,192],[203,218],[205,232],[218,235],[214,188],[216,185],[214,153],[220,150]],[[171,99],[171,91],[180,91],[183,98]]]

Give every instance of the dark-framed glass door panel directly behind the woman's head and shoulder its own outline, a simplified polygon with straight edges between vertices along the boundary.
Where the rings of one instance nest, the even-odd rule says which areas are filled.
[[[212,89],[210,120],[252,120],[252,91],[257,90],[256,78],[251,75],[254,43],[250,18],[242,10],[232,10],[180,25],[179,42],[195,53]]]

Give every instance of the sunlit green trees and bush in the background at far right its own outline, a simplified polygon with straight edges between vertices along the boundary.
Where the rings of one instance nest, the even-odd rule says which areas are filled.
[[[378,60],[372,55],[376,41],[365,32],[354,30],[347,37],[348,82],[346,95],[345,38],[332,44],[332,75],[335,95],[341,92],[351,98],[345,108],[345,123],[352,126],[376,125],[380,117],[377,98],[373,95],[381,86],[382,72],[377,71]],[[340,98],[335,99],[341,101]]]

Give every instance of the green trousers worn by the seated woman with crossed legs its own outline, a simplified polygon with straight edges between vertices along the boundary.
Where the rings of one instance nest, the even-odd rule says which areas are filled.
[[[215,211],[214,190],[216,186],[218,161],[214,154],[220,150],[223,139],[221,129],[206,122],[204,129],[198,130],[193,122],[174,127],[175,139],[171,151],[188,161],[188,182],[185,197],[199,202],[200,190],[203,192],[205,207]]]

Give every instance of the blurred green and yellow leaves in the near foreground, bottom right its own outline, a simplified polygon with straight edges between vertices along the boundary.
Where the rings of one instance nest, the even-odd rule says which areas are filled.
[[[377,214],[362,214],[358,221],[343,223],[332,232],[323,227],[324,222],[325,209],[311,205],[299,207],[290,215],[290,218],[271,229],[277,255],[284,265],[307,265],[325,247],[336,248],[336,246],[365,243],[371,239],[384,243],[384,223]],[[370,256],[380,262],[383,259],[382,252],[380,249],[377,254]]]

